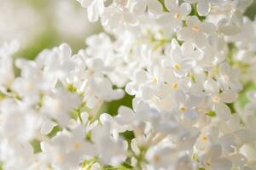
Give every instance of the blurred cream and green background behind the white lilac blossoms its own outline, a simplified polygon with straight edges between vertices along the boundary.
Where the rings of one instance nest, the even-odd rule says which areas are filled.
[[[246,14],[253,20],[256,0]],[[33,59],[44,48],[62,42],[76,53],[85,48],[86,37],[100,31],[102,26],[89,23],[76,0],[0,0],[0,43],[18,39],[21,49],[15,57]],[[119,105],[131,106],[131,96],[104,105],[102,111],[115,114]]]

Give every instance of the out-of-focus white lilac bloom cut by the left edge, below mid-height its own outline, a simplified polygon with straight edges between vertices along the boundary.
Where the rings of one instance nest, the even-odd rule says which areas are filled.
[[[1,122],[0,136],[3,139],[24,142],[37,136],[43,119],[26,104],[18,104],[14,99],[3,99]]]

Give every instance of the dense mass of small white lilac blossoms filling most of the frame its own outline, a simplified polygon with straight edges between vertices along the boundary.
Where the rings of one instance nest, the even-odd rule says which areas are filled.
[[[256,169],[256,92],[236,107],[256,80],[252,1],[79,3],[111,36],[15,59],[20,73],[19,43],[0,48],[3,169]],[[125,93],[132,108],[99,113]]]

